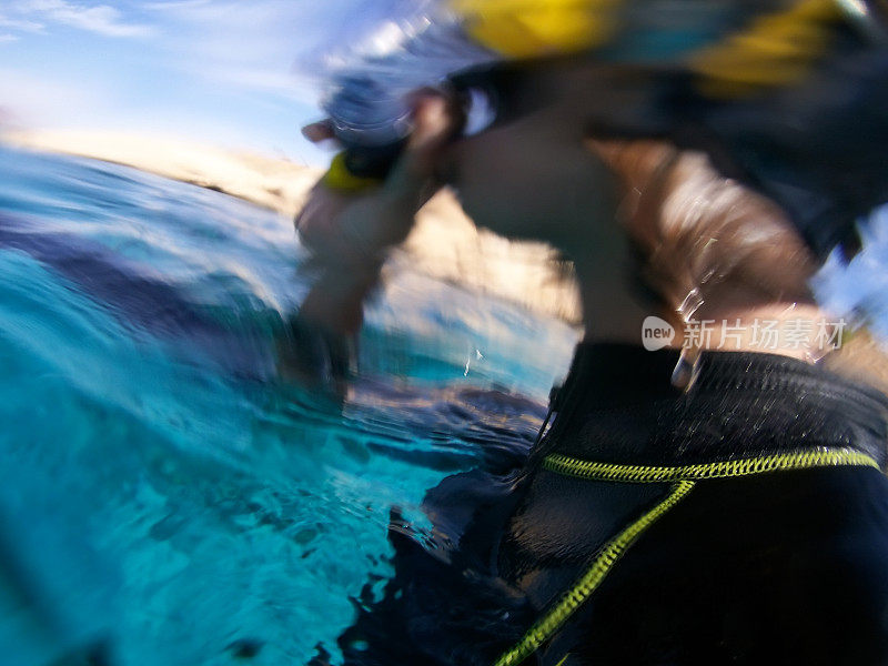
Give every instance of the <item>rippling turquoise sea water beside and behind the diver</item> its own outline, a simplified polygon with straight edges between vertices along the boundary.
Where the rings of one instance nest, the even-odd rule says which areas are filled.
[[[391,508],[526,447],[574,331],[396,268],[339,414],[274,376],[303,260],[269,211],[0,148],[0,663],[335,655]]]

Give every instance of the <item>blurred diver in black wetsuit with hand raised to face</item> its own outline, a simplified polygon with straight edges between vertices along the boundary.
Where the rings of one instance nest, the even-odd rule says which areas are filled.
[[[831,90],[876,81],[872,53],[859,69],[842,53],[859,77]],[[626,84],[594,59],[546,59],[521,71],[513,94],[534,103],[506,122],[465,137],[458,98],[423,92],[382,182],[334,163],[296,221],[326,266],[303,332],[357,330],[386,249],[445,184],[476,223],[574,262],[585,327],[529,457],[430,493],[451,546],[392,531],[395,575],[343,634],[346,664],[888,663],[888,398],[870,385],[885,376],[875,363],[844,376],[840,325],[809,286],[834,248],[854,252],[841,201],[856,186],[855,205],[874,205],[886,181],[867,172],[870,148],[815,186],[836,165],[768,130],[798,111],[786,91],[804,98],[836,62],[713,102],[686,77],[652,97],[647,73]],[[851,109],[884,130],[870,94],[796,127],[850,137]],[[615,108],[627,112],[618,129]],[[759,133],[740,144],[740,127]],[[829,137],[823,150],[842,155]],[[650,315],[676,332],[656,351],[642,345]],[[796,334],[764,345],[765,322]]]

